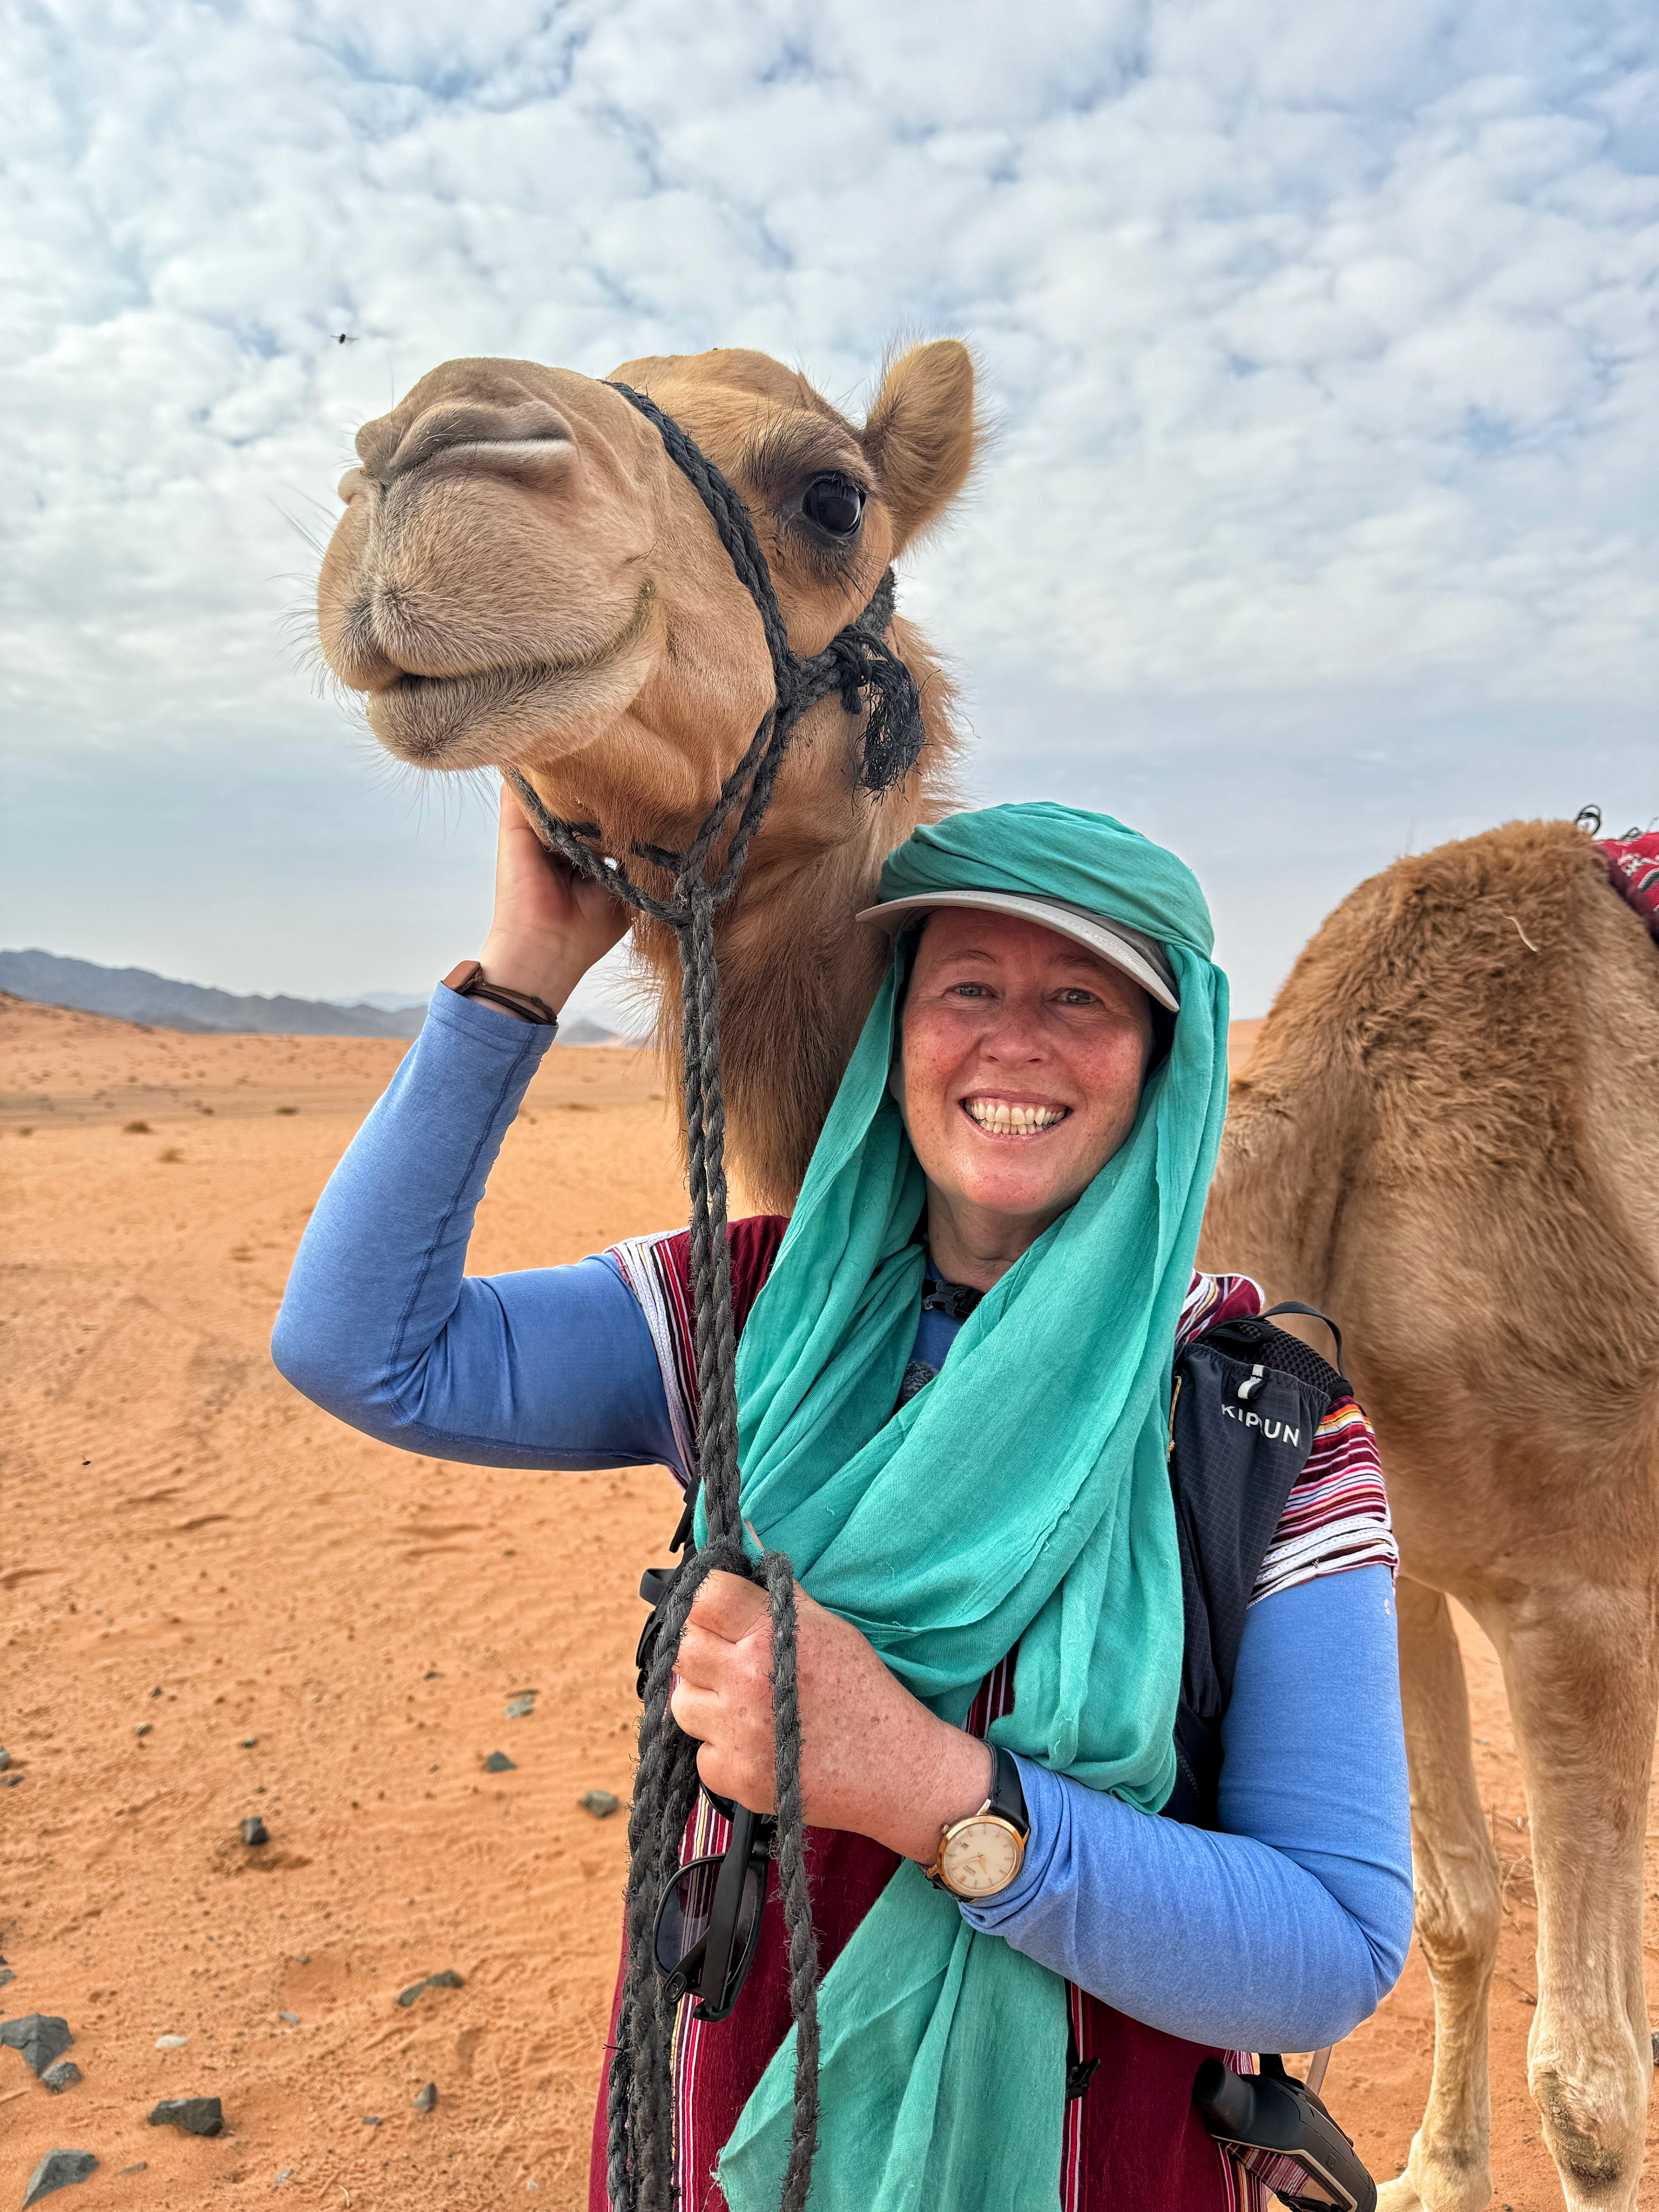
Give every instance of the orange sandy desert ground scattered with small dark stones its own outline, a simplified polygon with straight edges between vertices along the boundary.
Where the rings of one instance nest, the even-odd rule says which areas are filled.
[[[0,2051],[0,2208],[55,2146],[100,2159],[62,2199],[77,2212],[272,2185],[319,2208],[586,2205],[626,1836],[580,1801],[626,1805],[635,1590],[675,1491],[659,1469],[418,1460],[272,1369],[305,1217],[403,1051],[0,998],[0,2017],[66,2017],[84,2075],[51,2095]],[[471,1265],[681,1217],[655,1062],[555,1046]],[[1509,1876],[1498,2201],[1544,2212],[1526,1801],[1498,1661],[1460,1626]],[[513,1770],[484,1772],[491,1752]],[[460,1986],[398,2004],[434,1973]],[[1380,2177],[1429,2059],[1413,1951],[1325,2093]],[[190,2095],[223,2101],[223,2135],[146,2124]]]

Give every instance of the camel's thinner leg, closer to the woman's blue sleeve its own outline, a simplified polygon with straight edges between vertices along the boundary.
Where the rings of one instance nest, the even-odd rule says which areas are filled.
[[[1498,1856],[1475,1790],[1469,1692],[1440,1590],[1400,1577],[1400,1699],[1411,1765],[1418,1942],[1433,1982],[1433,2081],[1378,2212],[1478,2212],[1491,2197],[1486,1995],[1498,1958]]]

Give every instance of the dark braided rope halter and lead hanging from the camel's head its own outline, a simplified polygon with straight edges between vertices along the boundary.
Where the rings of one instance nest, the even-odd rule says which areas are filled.
[[[615,898],[666,922],[679,947],[681,1053],[686,1066],[686,1164],[690,1181],[690,1276],[697,1343],[697,1467],[681,1528],[690,1531],[690,1500],[701,1484],[708,1542],[701,1551],[686,1533],[686,1551],[661,1606],[639,1717],[639,1770],[628,1816],[626,1973],[617,2013],[617,2042],[606,2095],[606,2188],[613,2212],[675,2212],[672,2137],[672,2028],[675,2008],[653,1966],[655,1900],[679,1867],[686,1820],[697,1803],[697,1741],[668,1712],[675,1657],[686,1617],[708,1575],[723,1571],[757,1579],[743,1551],[737,1467],[737,1325],[732,1318],[732,1259],[726,1241],[726,1102],[721,1095],[719,969],[714,909],[737,889],[750,841],[772,803],[783,757],[801,717],[830,692],[841,692],[847,714],[867,706],[858,787],[887,792],[916,765],[925,732],[916,679],[885,641],[894,613],[894,571],[876,586],[869,606],[803,659],[772,588],[765,553],[750,511],[734,487],[692,438],[628,385],[615,392],[661,434],[668,458],[690,478],[714,520],[732,568],[759,608],[772,657],[774,701],[750,745],[721,785],[701,827],[684,852],[635,845],[633,858],[672,878],[666,898],[644,891],[622,860],[597,847],[595,823],[566,823],[546,810],[533,785],[507,770],[531,825],[568,867],[602,883]],[[710,872],[721,834],[730,830],[723,860]],[[783,2179],[783,2212],[805,2212],[812,2159],[818,2143],[818,1940],[807,1896],[805,1827],[801,1818],[801,1708],[796,1677],[794,1568],[779,1551],[759,1564],[772,1617],[772,1725],[776,1743],[776,1856],[783,1924],[790,1940],[790,2013],[796,2026],[794,2128]]]

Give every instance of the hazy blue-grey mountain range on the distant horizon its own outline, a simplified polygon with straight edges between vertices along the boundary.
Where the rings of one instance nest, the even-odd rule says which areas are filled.
[[[323,998],[237,998],[199,982],[173,982],[148,969],[106,969],[95,960],[64,960],[38,949],[0,951],[0,991],[15,991],[44,1006],[108,1013],[117,1022],[148,1022],[150,1029],[257,1037],[416,1037],[427,1018],[425,1000],[400,1002],[394,991],[374,991],[372,1002],[354,1006]],[[560,1026],[560,1044],[626,1042],[597,1022]]]

